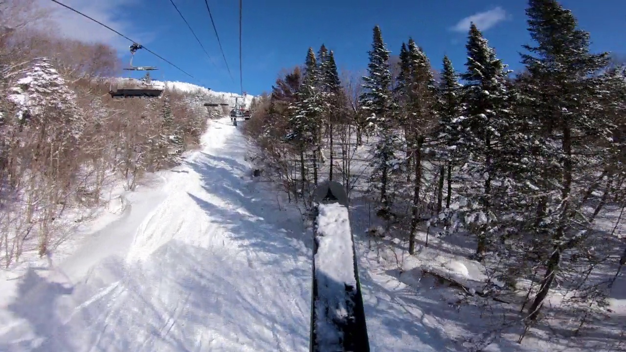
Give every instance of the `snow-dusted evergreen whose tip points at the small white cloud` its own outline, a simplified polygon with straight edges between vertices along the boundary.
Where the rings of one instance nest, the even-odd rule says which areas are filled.
[[[457,150],[466,160],[459,170],[459,214],[465,225],[476,235],[476,259],[483,259],[495,232],[493,209],[493,183],[496,180],[493,167],[498,138],[505,130],[507,106],[505,65],[496,58],[483,34],[471,23],[468,43],[466,72],[461,75],[463,87],[463,113],[458,123]],[[453,123],[453,124],[456,124]]]

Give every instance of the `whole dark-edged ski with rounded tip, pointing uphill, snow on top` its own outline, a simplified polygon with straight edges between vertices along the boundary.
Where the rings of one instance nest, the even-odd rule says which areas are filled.
[[[319,185],[311,304],[311,352],[369,351],[347,195],[339,182]]]

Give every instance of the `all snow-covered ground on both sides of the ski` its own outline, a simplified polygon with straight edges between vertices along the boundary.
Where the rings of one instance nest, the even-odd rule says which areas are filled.
[[[0,351],[306,351],[312,234],[280,192],[250,177],[251,149],[230,118],[212,120],[183,165],[137,192],[114,187],[53,256],[0,271]],[[361,173],[367,150],[357,154]],[[504,326],[518,306],[424,274],[480,288],[485,267],[467,258],[469,239],[431,236],[425,247],[420,232],[409,257],[394,236],[367,237],[374,209],[357,193],[350,225],[372,351],[468,351],[480,336],[493,342],[484,351],[623,350],[623,276],[610,314],[581,336],[543,326],[518,344],[520,326]]]

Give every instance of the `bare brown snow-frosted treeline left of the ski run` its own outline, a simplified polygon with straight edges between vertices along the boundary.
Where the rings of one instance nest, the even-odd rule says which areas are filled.
[[[210,117],[200,91],[166,87],[157,99],[114,100],[108,92],[120,82],[110,77],[123,66],[117,51],[54,36],[49,19],[36,1],[0,2],[0,263],[6,267],[24,252],[54,251],[88,218],[73,214],[90,214],[108,201],[113,185],[133,190],[145,173],[176,165],[198,144]]]

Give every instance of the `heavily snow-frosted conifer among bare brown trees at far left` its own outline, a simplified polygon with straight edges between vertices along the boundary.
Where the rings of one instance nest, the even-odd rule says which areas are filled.
[[[28,134],[18,144],[32,150],[22,162],[29,174],[23,190],[29,194],[28,216],[38,218],[39,255],[43,256],[51,241],[51,224],[62,211],[73,172],[79,167],[74,156],[85,120],[76,95],[48,58],[33,61],[11,93],[8,98],[16,105],[18,123]]]

